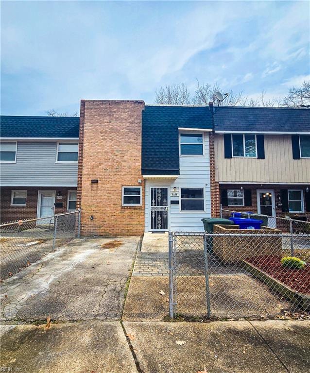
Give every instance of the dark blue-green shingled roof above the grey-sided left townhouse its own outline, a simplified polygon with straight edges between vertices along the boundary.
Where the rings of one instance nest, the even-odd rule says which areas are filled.
[[[0,137],[79,137],[78,117],[0,116]]]

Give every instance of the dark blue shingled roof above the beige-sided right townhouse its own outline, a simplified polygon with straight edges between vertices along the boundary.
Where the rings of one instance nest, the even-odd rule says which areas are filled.
[[[219,106],[214,109],[215,132],[310,132],[310,109]]]

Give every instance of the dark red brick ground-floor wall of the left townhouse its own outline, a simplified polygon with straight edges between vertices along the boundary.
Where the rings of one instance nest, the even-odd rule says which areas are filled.
[[[1,200],[0,200],[0,221],[6,222],[19,219],[34,219],[37,213],[37,201],[39,190],[55,190],[60,192],[63,207],[55,207],[55,214],[63,214],[67,212],[67,197],[68,190],[75,190],[74,187],[55,187],[55,186],[2,186],[1,187]],[[11,206],[11,193],[12,190],[27,190],[26,206]]]

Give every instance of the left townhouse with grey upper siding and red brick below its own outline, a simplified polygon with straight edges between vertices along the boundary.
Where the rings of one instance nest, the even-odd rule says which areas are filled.
[[[0,117],[1,222],[76,209],[79,120]]]

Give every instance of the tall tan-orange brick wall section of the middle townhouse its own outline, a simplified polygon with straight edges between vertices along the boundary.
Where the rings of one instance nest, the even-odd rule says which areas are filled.
[[[144,231],[143,108],[143,101],[81,101],[78,205],[82,235],[126,236]],[[92,184],[92,179],[98,179],[98,184]],[[123,207],[122,186],[142,186],[142,205]]]

